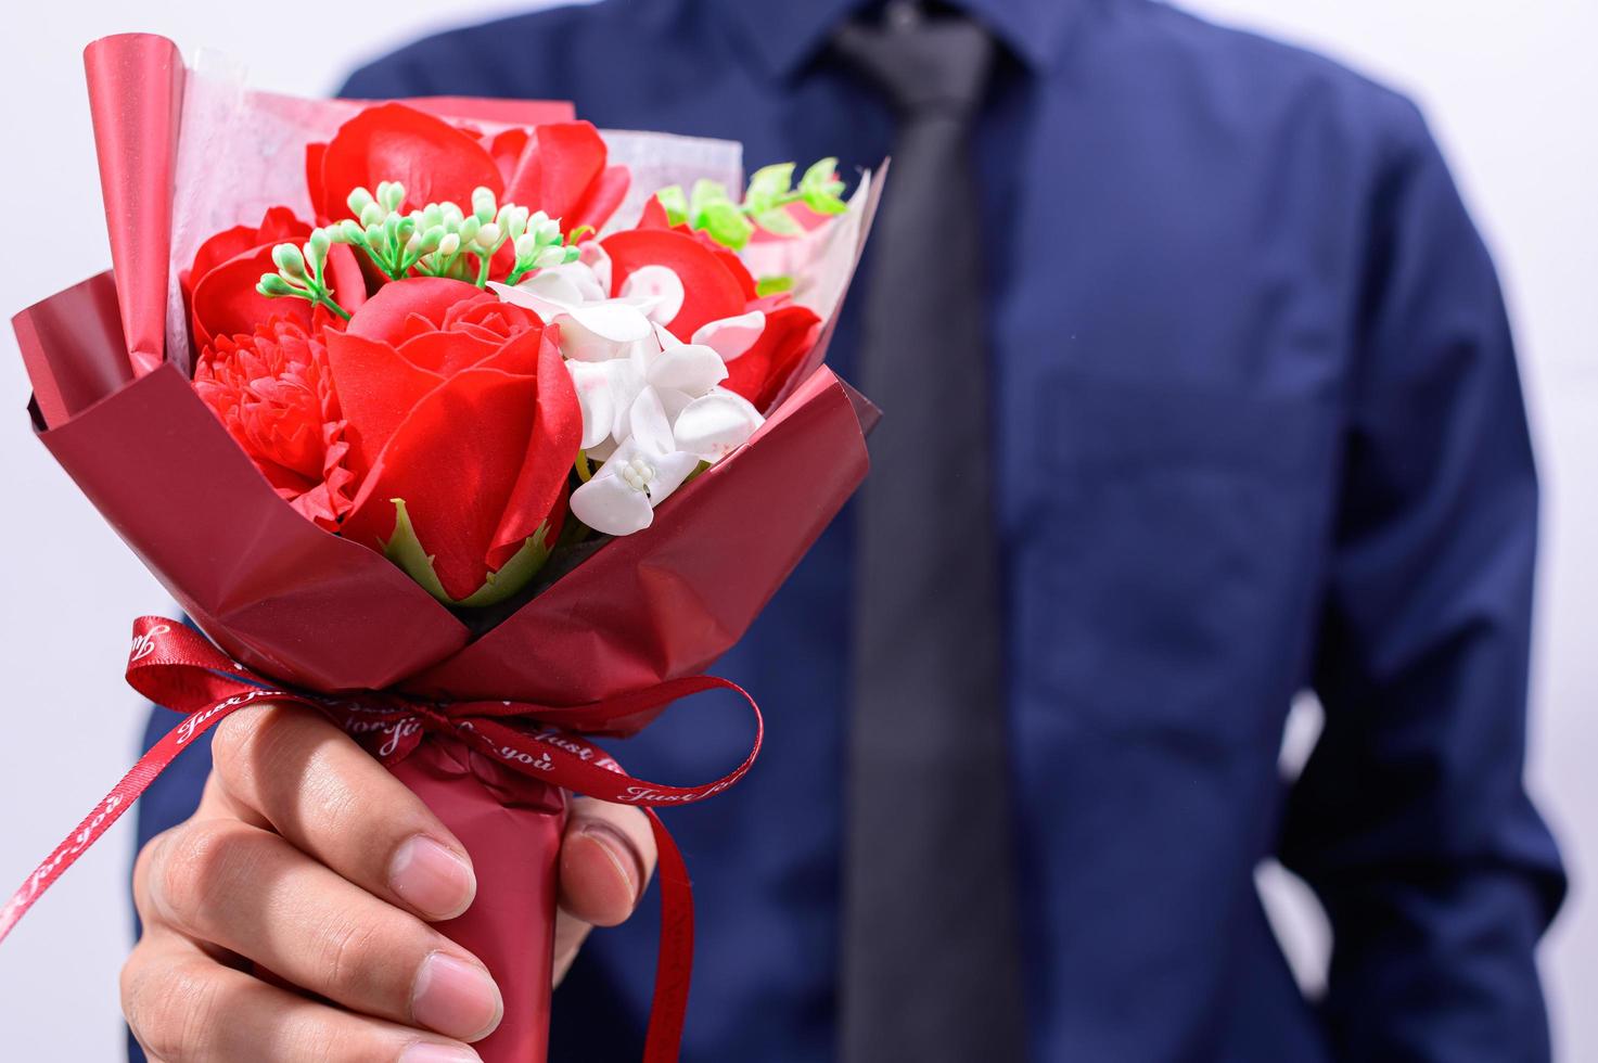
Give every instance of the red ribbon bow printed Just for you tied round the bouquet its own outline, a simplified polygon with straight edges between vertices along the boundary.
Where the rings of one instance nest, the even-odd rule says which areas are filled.
[[[749,770],[759,756],[765,724],[748,691],[716,676],[692,676],[577,707],[529,702],[444,703],[382,691],[339,699],[273,686],[272,679],[232,660],[193,630],[165,617],[139,617],[133,622],[128,683],[157,705],[189,716],[139,758],[105,799],[0,908],[0,942],[197,737],[254,702],[307,705],[342,726],[385,766],[404,759],[428,734],[452,735],[550,786],[575,790],[602,801],[644,806],[660,849],[662,910],[655,1001],[649,1013],[644,1063],[676,1063],[694,967],[694,890],[682,854],[652,806],[703,801]],[[733,691],[749,703],[754,713],[754,745],[738,767],[703,786],[665,786],[633,778],[578,734],[631,734],[671,702],[716,689]],[[562,727],[535,723],[540,719],[559,719]]]

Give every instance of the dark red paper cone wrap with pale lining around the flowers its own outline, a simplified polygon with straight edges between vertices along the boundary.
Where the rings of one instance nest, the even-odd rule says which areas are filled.
[[[503,1025],[478,1049],[492,1063],[543,1060],[566,794],[526,762],[540,756],[539,742],[561,745],[550,750],[561,762],[593,761],[598,751],[583,742],[550,735],[626,735],[649,724],[676,691],[706,689],[681,683],[700,676],[743,635],[860,484],[868,467],[865,432],[876,411],[820,361],[876,187],[863,189],[861,209],[841,219],[849,224],[834,225],[826,241],[807,251],[823,278],[815,299],[828,328],[754,438],[665,500],[650,528],[604,542],[494,627],[473,631],[382,555],[323,531],[278,497],[190,387],[182,329],[169,317],[173,264],[193,253],[195,233],[216,224],[205,189],[225,184],[189,187],[185,171],[201,155],[225,160],[230,152],[240,169],[249,169],[256,149],[229,145],[225,137],[240,137],[241,128],[256,134],[281,128],[284,141],[304,142],[337,126],[352,104],[217,88],[205,77],[185,77],[169,42],[150,37],[97,42],[88,70],[115,270],[16,315],[34,384],[34,424],[83,494],[232,659],[195,663],[179,660],[182,654],[173,660],[155,654],[157,662],[141,662],[152,646],[145,641],[141,649],[136,641],[129,681],[157,695],[169,692],[168,700],[187,699],[176,708],[203,710],[185,724],[193,734],[237,708],[235,702],[268,692],[252,684],[316,705],[379,697],[423,707],[526,707],[524,718],[500,729],[508,743],[500,758],[486,739],[462,740],[483,739],[492,721],[452,732],[444,724],[459,719],[447,708],[415,710],[415,719],[436,724],[431,729],[390,715],[364,737],[473,857],[478,898],[443,930],[487,964],[505,996]],[[489,123],[569,110],[561,104],[423,102],[438,113]],[[615,134],[617,145],[666,181],[706,166],[721,176],[716,168],[729,158],[737,166],[737,147],[719,142]],[[248,192],[264,203],[292,195],[280,187]],[[244,205],[249,209],[254,203]],[[165,627],[141,623],[142,639]],[[134,667],[150,663],[174,678],[166,686],[134,679]],[[227,671],[244,679],[217,686],[216,676]],[[184,737],[166,759],[181,751]],[[737,761],[737,753],[729,758]],[[149,782],[141,770],[142,764],[129,774],[137,785],[128,794]],[[612,799],[690,799],[668,791],[622,788]],[[662,793],[668,796],[650,796]],[[107,799],[78,836],[93,841],[125,807],[126,801]],[[70,855],[75,850],[66,863]],[[0,935],[64,870],[61,854],[53,860],[0,916]],[[678,868],[674,849],[663,852],[668,890],[686,890]],[[668,934],[684,929],[692,934],[690,918],[686,927],[681,921],[668,926]],[[686,994],[686,964],[681,978]],[[676,1058],[681,1015],[665,1025],[662,1037],[652,1033],[650,1058]],[[666,1041],[670,1049],[660,1047]]]

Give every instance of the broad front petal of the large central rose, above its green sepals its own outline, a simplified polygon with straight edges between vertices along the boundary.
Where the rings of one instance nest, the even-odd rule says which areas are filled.
[[[564,377],[564,369],[558,376]],[[388,440],[344,521],[345,537],[380,548],[379,540],[395,529],[392,499],[404,499],[444,591],[465,598],[483,587],[503,499],[513,488],[519,492],[523,468],[532,457],[529,438],[542,414],[539,390],[534,377],[495,369],[467,369],[435,388]],[[574,444],[566,467],[575,454]],[[559,456],[543,457],[559,462]],[[556,465],[562,483],[566,467]],[[537,516],[534,528],[548,516],[555,496],[542,513],[524,515]]]

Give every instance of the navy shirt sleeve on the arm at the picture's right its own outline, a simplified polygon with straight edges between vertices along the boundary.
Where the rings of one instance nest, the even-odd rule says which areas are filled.
[[[1548,1058],[1564,876],[1521,778],[1537,478],[1504,301],[1405,104],[1371,206],[1315,687],[1282,858],[1333,926],[1339,1058]]]

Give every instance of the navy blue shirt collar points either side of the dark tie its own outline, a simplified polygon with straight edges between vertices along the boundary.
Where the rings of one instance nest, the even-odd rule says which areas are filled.
[[[1064,43],[1066,29],[1083,0],[951,0],[1029,67],[1045,70]],[[873,0],[714,0],[740,43],[773,78],[799,70],[833,30]]]

